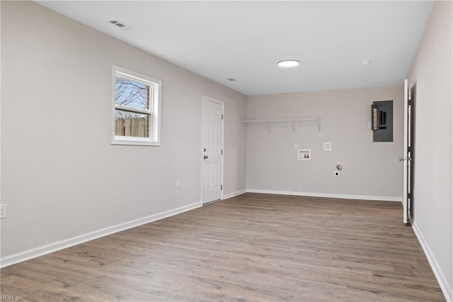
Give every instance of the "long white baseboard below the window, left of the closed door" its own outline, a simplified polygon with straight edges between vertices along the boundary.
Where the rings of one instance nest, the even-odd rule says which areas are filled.
[[[29,259],[40,257],[42,255],[50,254],[51,252],[57,252],[59,250],[66,249],[67,247],[72,247],[74,245],[79,245],[81,243],[94,240],[100,237],[104,237],[113,233],[121,232],[122,230],[127,230],[130,228],[135,228],[139,225],[144,225],[146,223],[151,223],[156,220],[167,218],[185,211],[193,210],[194,208],[199,208],[202,206],[201,201],[197,203],[192,203],[187,206],[181,206],[180,208],[175,208],[173,210],[164,211],[157,213],[151,216],[138,218],[135,220],[127,221],[125,223],[120,223],[117,225],[112,225],[108,228],[103,228],[101,230],[95,230],[90,233],[79,235],[76,237],[71,237],[68,239],[60,240],[57,242],[50,243],[48,245],[42,245],[41,247],[35,247],[31,250],[26,250],[24,252],[18,252],[16,254],[0,258],[0,267],[8,267],[10,265],[23,262]]]

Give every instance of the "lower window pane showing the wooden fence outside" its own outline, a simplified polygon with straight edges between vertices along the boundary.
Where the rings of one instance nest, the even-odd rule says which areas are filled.
[[[149,138],[149,114],[115,110],[115,135]]]

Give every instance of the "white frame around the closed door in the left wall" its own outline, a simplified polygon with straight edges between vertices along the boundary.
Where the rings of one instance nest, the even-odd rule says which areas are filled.
[[[220,183],[221,183],[221,189],[220,189],[220,199],[218,201],[221,201],[223,198],[224,198],[224,155],[225,155],[225,152],[224,152],[224,126],[225,126],[225,103],[224,101],[220,101],[218,99],[214,99],[210,96],[205,96],[203,95],[202,98],[201,98],[201,116],[200,116],[200,124],[201,124],[201,128],[200,128],[200,196],[201,196],[201,203],[202,203],[202,206],[205,206],[207,204],[210,204],[210,203],[213,203],[213,202],[216,202],[216,201],[210,201],[210,202],[207,202],[207,203],[203,203],[203,184],[204,184],[204,174],[203,174],[203,164],[204,164],[204,160],[203,160],[203,156],[205,155],[204,154],[204,151],[203,151],[203,102],[204,101],[210,101],[212,103],[216,103],[216,104],[219,104],[222,106],[222,123],[220,124],[222,129],[221,129],[221,135],[220,135],[220,147],[222,148],[222,155],[221,155],[221,160],[220,160]]]

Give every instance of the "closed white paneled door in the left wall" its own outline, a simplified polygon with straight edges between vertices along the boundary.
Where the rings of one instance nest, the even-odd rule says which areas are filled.
[[[222,198],[223,181],[223,110],[224,104],[202,99],[202,202]]]

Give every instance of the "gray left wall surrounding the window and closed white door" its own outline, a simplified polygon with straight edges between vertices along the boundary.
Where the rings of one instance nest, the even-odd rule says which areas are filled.
[[[1,1],[1,46],[1,257],[200,202],[202,95],[246,189],[243,94],[28,1]],[[110,145],[112,65],[162,80],[161,147]]]

